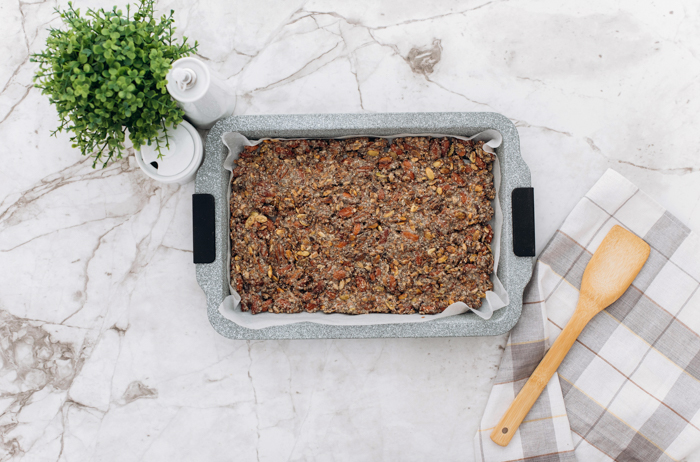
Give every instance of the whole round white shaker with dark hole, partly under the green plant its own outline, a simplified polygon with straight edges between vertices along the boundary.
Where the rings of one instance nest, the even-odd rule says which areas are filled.
[[[161,183],[187,184],[194,180],[197,169],[202,165],[204,150],[202,138],[197,130],[186,121],[178,124],[177,128],[168,127],[169,149],[161,149],[162,156],[158,158],[155,143],[151,146],[141,146],[136,151],[136,162],[141,170]],[[161,146],[165,146],[165,136],[161,135]]]

